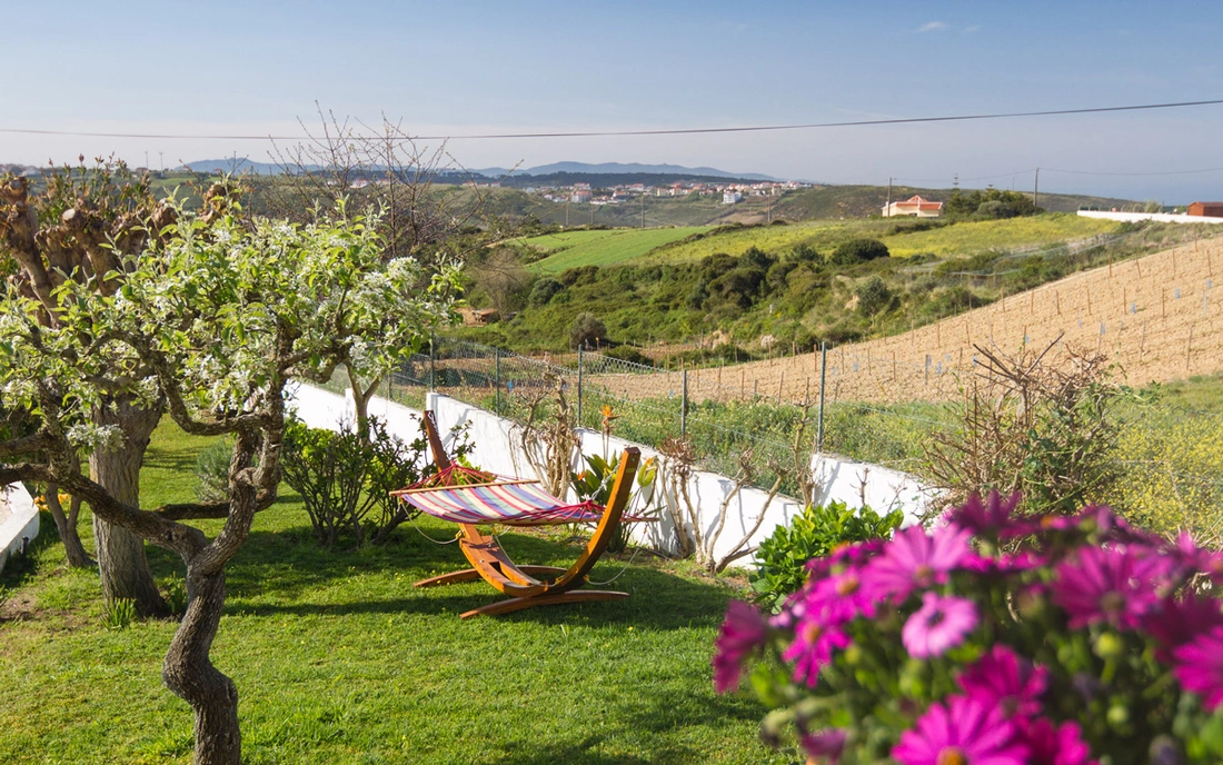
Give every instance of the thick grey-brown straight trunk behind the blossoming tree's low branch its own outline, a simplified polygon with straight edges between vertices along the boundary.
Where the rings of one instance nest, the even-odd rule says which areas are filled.
[[[124,443],[111,449],[95,449],[89,455],[89,477],[106,492],[126,504],[139,507],[141,465],[149,436],[160,419],[160,411],[119,405],[119,411],[95,412],[100,425],[117,425],[124,432]],[[132,600],[141,617],[164,617],[170,608],[153,581],[144,541],[131,531],[111,525],[97,513],[93,517],[94,550],[98,572],[102,575],[102,592],[106,602],[117,599]]]

